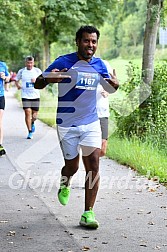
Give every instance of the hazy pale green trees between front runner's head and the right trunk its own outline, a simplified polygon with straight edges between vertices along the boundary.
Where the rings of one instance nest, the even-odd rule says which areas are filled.
[[[142,54],[146,6],[146,0],[119,0],[114,8],[110,8],[105,22],[109,25],[110,31],[108,34],[105,33],[105,39],[110,40],[111,43],[110,48],[103,49],[110,58],[118,55],[131,57],[129,52],[132,52],[133,57],[136,56],[136,51],[138,56]],[[103,26],[100,30],[103,32]],[[138,45],[140,45],[139,49],[136,48]]]

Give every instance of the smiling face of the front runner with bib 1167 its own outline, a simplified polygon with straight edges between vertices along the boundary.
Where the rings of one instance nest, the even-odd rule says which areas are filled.
[[[97,45],[97,34],[84,32],[81,40],[77,40],[79,59],[89,62],[96,52]]]

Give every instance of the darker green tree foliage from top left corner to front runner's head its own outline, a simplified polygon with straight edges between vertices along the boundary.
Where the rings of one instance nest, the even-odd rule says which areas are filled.
[[[49,63],[50,45],[82,24],[102,25],[116,0],[0,0],[0,52],[16,60],[28,52]],[[17,53],[16,53],[17,52]],[[44,52],[44,54],[43,54]]]

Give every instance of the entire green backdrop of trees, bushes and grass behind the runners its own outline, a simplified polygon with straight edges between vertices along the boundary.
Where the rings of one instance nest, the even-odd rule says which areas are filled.
[[[33,55],[36,66],[44,70],[60,54],[76,50],[75,32],[80,25],[100,29],[97,56],[116,69],[121,84],[110,96],[107,155],[166,183],[167,47],[160,44],[159,29],[154,32],[156,45],[151,55],[153,78],[146,81],[150,94],[142,103],[137,90],[147,58],[144,45],[153,44],[145,41],[149,10],[152,23],[160,15],[156,26],[165,29],[167,1],[0,0],[0,4],[0,60],[10,71],[22,68],[27,55]],[[56,85],[41,92],[40,119],[50,126],[55,126],[56,95]]]

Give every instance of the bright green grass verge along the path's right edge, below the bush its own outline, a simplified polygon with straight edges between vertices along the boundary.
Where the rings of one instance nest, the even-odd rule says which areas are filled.
[[[128,140],[112,135],[108,140],[107,156],[140,174],[149,174],[150,178],[158,177],[160,182],[167,183],[167,157],[151,144],[137,138]]]

